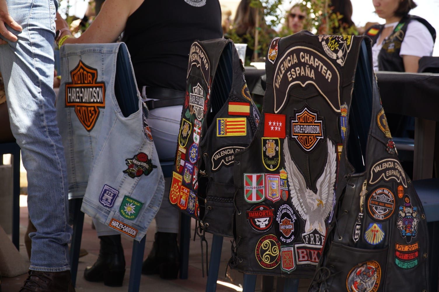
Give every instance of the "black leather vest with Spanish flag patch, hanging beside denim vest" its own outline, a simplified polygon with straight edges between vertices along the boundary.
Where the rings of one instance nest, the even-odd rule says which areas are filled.
[[[169,201],[204,231],[232,237],[234,155],[259,123],[231,40],[195,41]]]

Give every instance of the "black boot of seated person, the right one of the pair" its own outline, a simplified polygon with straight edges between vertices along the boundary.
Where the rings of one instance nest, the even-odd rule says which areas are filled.
[[[142,274],[160,274],[162,279],[176,279],[180,267],[177,234],[157,232],[148,258],[143,262]]]

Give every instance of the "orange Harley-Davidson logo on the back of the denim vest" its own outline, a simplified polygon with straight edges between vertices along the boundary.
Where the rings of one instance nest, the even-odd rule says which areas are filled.
[[[105,107],[105,83],[97,82],[97,69],[79,60],[70,71],[72,82],[65,84],[65,106],[75,107],[79,121],[91,131],[99,116],[99,108]]]

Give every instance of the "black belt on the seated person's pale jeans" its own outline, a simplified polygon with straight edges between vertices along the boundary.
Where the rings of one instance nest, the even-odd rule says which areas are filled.
[[[173,105],[183,105],[185,92],[180,90],[161,88],[161,87],[145,87],[146,98],[158,99],[158,101],[146,101],[148,109],[164,108]]]

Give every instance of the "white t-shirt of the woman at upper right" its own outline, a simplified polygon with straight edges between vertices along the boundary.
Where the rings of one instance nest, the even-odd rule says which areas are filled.
[[[398,22],[387,23],[384,27],[396,27]],[[378,38],[379,39],[379,38]],[[387,38],[386,38],[387,39]],[[378,71],[378,54],[383,47],[384,40],[378,44],[378,41],[372,47],[372,59],[374,64],[374,71]],[[401,50],[399,56],[431,56],[433,54],[434,41],[432,35],[427,27],[421,22],[412,20],[407,25],[407,31],[401,43]]]

